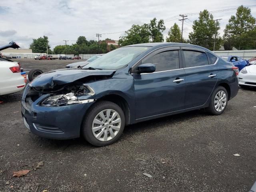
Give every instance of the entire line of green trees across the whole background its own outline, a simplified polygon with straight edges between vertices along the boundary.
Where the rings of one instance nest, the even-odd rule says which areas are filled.
[[[215,22],[213,15],[208,10],[203,10],[199,13],[197,20],[192,24],[192,32],[189,33],[188,39],[181,39],[181,30],[178,24],[174,25],[168,31],[166,42],[184,42],[195,44],[213,50],[214,38],[215,50],[218,50],[222,45],[225,50],[232,50],[233,47],[239,50],[256,49],[256,20],[251,14],[250,8],[239,6],[236,14],[232,15],[228,20],[228,24],[224,29],[224,35],[220,36],[220,22]],[[163,32],[166,30],[164,20],[157,21],[156,18],[150,20],[148,24],[132,25],[132,27],[124,33],[124,36],[119,37],[118,44],[120,46],[149,43],[149,42],[164,42]],[[30,48],[33,52],[46,52],[46,46],[53,51],[54,54],[96,54],[106,53],[114,50],[115,46],[110,46],[107,49],[106,38],[98,44],[95,40],[86,40],[85,36],[79,36],[76,43],[72,45],[57,45],[53,50],[50,50],[47,36],[33,39]]]

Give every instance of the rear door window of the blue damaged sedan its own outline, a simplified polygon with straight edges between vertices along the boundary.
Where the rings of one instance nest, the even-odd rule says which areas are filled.
[[[183,50],[183,54],[186,68],[209,65],[207,55],[204,52]]]

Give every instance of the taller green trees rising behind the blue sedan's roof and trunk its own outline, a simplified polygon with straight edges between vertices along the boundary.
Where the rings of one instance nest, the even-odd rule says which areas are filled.
[[[150,20],[149,24],[132,25],[119,39],[120,46],[130,44],[164,42],[162,32],[165,30],[164,20],[156,21],[156,18]],[[166,42],[184,42],[199,45],[210,50],[214,47],[214,38],[216,30],[215,50],[221,45],[225,50],[232,50],[233,47],[239,50],[256,49],[256,25],[255,18],[251,15],[250,8],[239,6],[236,15],[231,16],[221,37],[220,22],[214,20],[214,17],[208,10],[199,13],[197,20],[194,20],[192,32],[188,39],[181,39],[181,30],[178,24],[170,28],[166,37]]]

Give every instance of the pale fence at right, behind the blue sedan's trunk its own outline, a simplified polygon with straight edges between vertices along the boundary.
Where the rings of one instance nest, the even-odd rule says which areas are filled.
[[[256,57],[256,50],[214,51],[214,53],[219,56],[239,56],[246,60]]]

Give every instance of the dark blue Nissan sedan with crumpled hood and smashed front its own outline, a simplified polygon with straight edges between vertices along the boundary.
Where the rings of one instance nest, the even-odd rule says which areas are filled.
[[[210,50],[182,43],[118,48],[81,69],[44,73],[22,96],[33,134],[115,142],[125,125],[206,108],[220,115],[238,93],[238,68]]]

